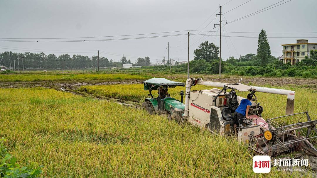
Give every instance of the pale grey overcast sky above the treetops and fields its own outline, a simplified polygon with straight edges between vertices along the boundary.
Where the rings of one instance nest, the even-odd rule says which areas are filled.
[[[131,35],[158,33],[180,30],[202,30],[219,13],[219,5],[223,5],[225,13],[248,0],[0,0],[0,38],[69,38],[111,35]],[[283,2],[287,2],[285,0]],[[229,3],[227,3],[229,2]],[[279,0],[251,0],[248,3],[223,15],[223,20],[231,22],[246,16]],[[281,2],[281,3],[283,3]],[[225,4],[226,3],[226,4]],[[276,4],[277,5],[277,4]],[[267,33],[276,32],[317,32],[317,1],[292,0],[265,12],[232,22],[224,26],[222,35],[258,36],[252,33],[264,29]],[[273,7],[273,6],[271,6]],[[216,12],[215,14],[213,14]],[[210,17],[211,16],[211,17]],[[209,18],[210,17],[210,18]],[[208,19],[209,18],[209,19]],[[207,20],[208,19],[208,20]],[[206,21],[207,20],[207,21]],[[205,22],[206,21],[206,22]],[[214,19],[204,30],[210,31]],[[204,22],[204,24],[203,24]],[[224,22],[225,23],[225,22]],[[218,27],[212,31],[217,31]],[[171,34],[186,34],[176,32]],[[191,31],[190,33],[199,33]],[[206,34],[207,32],[200,32]],[[143,36],[158,36],[171,34],[155,34]],[[219,32],[209,34],[219,35]],[[295,43],[297,38],[308,39],[317,43],[317,34],[268,34],[272,55],[281,56],[281,44]],[[138,36],[128,36],[138,37]],[[104,37],[98,39],[125,38]],[[59,40],[59,39],[57,39]],[[76,40],[76,39],[70,39]],[[208,40],[219,46],[219,37],[190,35],[190,60],[198,45]],[[197,41],[197,42],[196,42]],[[8,42],[0,41],[0,51],[26,52],[23,50],[54,51],[45,54],[83,54],[97,55],[97,50],[103,51],[101,56],[120,60],[124,54],[132,62],[137,57],[149,56],[152,63],[156,59],[167,59],[167,43],[170,44],[169,56],[172,59],[187,60],[187,35],[170,36],[149,39],[119,40],[119,41],[85,41],[85,42]],[[196,43],[194,43],[196,42]],[[6,47],[5,47],[6,46]],[[30,48],[30,49],[23,49]],[[238,58],[247,53],[256,54],[257,38],[223,37],[222,58],[229,56]],[[78,51],[74,52],[74,51]],[[57,53],[60,52],[60,53]],[[108,54],[105,54],[108,53]]]

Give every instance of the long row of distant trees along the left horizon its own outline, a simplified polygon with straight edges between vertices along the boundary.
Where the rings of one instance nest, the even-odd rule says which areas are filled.
[[[25,69],[82,69],[82,68],[96,68],[98,67],[98,56],[88,57],[87,55],[74,54],[70,56],[69,54],[61,54],[59,56],[55,54],[44,54],[41,53],[14,53],[11,51],[5,51],[0,53],[0,64],[5,67],[18,68],[18,63],[20,69],[22,69],[22,59],[23,66]],[[124,63],[131,63],[131,60],[127,60],[126,57],[121,58],[121,62],[114,62],[112,59],[107,57],[99,57],[99,67],[115,67],[116,65],[122,66]],[[149,65],[150,58],[138,58],[136,61],[136,66]]]

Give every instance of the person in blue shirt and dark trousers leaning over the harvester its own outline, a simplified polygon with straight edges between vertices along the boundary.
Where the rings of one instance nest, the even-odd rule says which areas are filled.
[[[248,117],[248,112],[249,112],[249,108],[250,106],[252,105],[251,103],[251,99],[252,99],[252,94],[249,93],[248,96],[247,96],[247,99],[242,99],[240,101],[240,105],[239,107],[236,109],[235,111],[235,124],[236,126],[239,126],[240,124],[242,124],[242,120],[240,120],[240,122],[238,123],[239,119],[243,119],[243,118],[247,118],[249,119]]]

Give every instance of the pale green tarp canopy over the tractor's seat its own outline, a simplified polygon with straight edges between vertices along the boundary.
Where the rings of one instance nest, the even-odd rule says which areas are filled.
[[[142,81],[144,83],[144,90],[157,90],[159,86],[167,86],[174,88],[175,86],[185,86],[185,83],[175,82],[164,78],[152,78],[146,81]]]

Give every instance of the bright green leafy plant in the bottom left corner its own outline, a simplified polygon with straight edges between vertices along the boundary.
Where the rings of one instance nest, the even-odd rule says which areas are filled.
[[[0,139],[0,176],[1,178],[36,178],[42,173],[43,166],[23,166],[16,164],[16,158],[13,157],[8,149],[5,148],[6,139]]]

